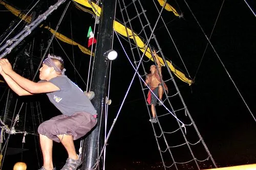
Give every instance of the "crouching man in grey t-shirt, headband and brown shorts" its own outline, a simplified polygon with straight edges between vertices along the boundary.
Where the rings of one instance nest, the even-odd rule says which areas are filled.
[[[86,135],[96,125],[96,110],[83,91],[65,76],[63,59],[48,55],[41,68],[39,82],[30,81],[12,70],[7,59],[0,60],[0,74],[18,95],[46,93],[49,100],[62,113],[38,127],[44,164],[40,170],[52,170],[53,141],[61,142],[68,152],[68,159],[61,170],[74,170],[82,163],[74,141]]]

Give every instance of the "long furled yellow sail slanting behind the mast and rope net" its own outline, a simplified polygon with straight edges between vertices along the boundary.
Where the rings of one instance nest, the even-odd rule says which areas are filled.
[[[89,8],[92,8],[92,9],[93,9],[93,7],[89,4],[88,0],[74,0],[74,1],[77,2],[77,3],[79,3],[79,4],[81,4],[81,5],[83,5],[83,6],[86,6],[86,7],[89,7]],[[98,9],[98,12],[101,10],[101,8],[98,7],[96,4],[93,4],[93,5],[94,5],[94,8],[95,8],[95,9]],[[96,14],[96,13],[95,13],[95,14]],[[96,14],[96,15],[98,15],[98,14]],[[141,38],[140,38],[138,35],[136,35],[135,33],[134,33],[134,36],[133,36],[132,30],[130,30],[130,29],[127,28],[127,33],[126,33],[125,27],[124,27],[121,23],[119,23],[119,22],[117,22],[117,21],[114,21],[114,26],[113,26],[113,28],[114,28],[114,30],[115,30],[116,32],[118,32],[119,34],[121,34],[121,35],[123,35],[123,36],[125,36],[125,37],[129,37],[129,38],[133,39],[133,40],[136,42],[136,44],[139,46],[139,49],[140,49],[143,53],[146,51],[146,52],[145,52],[145,56],[146,56],[147,58],[150,58],[151,60],[153,60],[153,59],[152,59],[152,55],[151,55],[150,49],[149,49],[149,48],[145,49],[145,44],[144,44],[144,42],[143,42],[143,41],[141,40]],[[127,34],[128,34],[128,35],[127,35]],[[161,63],[164,63],[164,62],[163,62],[163,59],[162,59],[161,57],[159,57],[158,55],[157,55],[157,57],[158,57],[158,59],[159,59],[159,61],[160,61]],[[163,65],[163,64],[162,64],[162,65]],[[170,70],[172,70],[172,71],[174,72],[174,74],[175,74],[180,80],[182,80],[183,82],[188,83],[189,85],[191,85],[191,84],[193,83],[193,81],[190,80],[190,79],[188,79],[181,71],[177,70],[177,69],[172,65],[172,63],[170,63],[169,61],[167,61],[167,65],[168,65],[168,67],[170,68]]]

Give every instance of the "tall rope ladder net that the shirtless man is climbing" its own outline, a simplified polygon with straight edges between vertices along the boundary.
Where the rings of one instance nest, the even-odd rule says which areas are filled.
[[[140,79],[145,104],[148,106],[148,115],[151,118],[150,120],[152,122],[158,151],[161,156],[162,166],[164,169],[182,169],[184,167],[201,169],[205,168],[204,164],[208,164],[208,167],[217,167],[185,105],[179,87],[175,81],[175,72],[167,66],[167,62],[172,62],[165,58],[157,37],[154,34],[166,2],[164,2],[163,7],[158,10],[159,16],[156,16],[155,20],[147,18],[147,13],[152,11],[146,11],[143,8],[142,2],[139,0],[129,3],[118,0],[118,4],[122,16],[121,22],[126,29],[126,37],[119,33],[116,33],[116,35],[121,44],[124,42],[123,39],[125,39],[125,42],[129,42],[130,51],[125,51],[125,54],[134,69],[138,70],[137,76]],[[152,25],[152,23],[154,24]],[[140,37],[144,46],[141,46],[140,42],[136,41],[138,40],[137,37]],[[162,65],[160,69],[162,71],[158,68],[155,74],[159,75],[161,84],[166,83],[169,89],[167,91],[163,88],[163,101],[157,98],[157,105],[154,106],[156,112],[155,122],[153,122],[152,119],[151,105],[146,101],[148,91],[152,92],[152,90],[149,86],[144,86],[144,84],[146,84],[145,80],[148,75],[147,71],[149,71],[149,65],[154,64],[150,62],[150,60],[154,60],[153,50],[157,51],[156,57],[162,58],[162,62],[160,61]],[[146,52],[152,54],[150,60],[145,58]],[[154,61],[155,65],[157,65],[156,60]],[[163,76],[161,76],[160,71],[163,72]],[[151,94],[155,95],[154,93]],[[159,104],[162,106],[158,106]]]

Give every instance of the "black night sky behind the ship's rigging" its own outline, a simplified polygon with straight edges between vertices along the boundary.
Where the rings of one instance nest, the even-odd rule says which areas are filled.
[[[252,8],[255,7],[255,3],[253,4],[252,1],[247,2]],[[30,1],[24,1],[23,4],[17,1],[11,3],[19,9],[26,9]],[[207,40],[184,1],[177,1],[177,3],[173,4],[168,1],[168,3],[184,15],[183,18],[178,18],[171,12],[163,11],[163,19],[172,34],[189,75],[191,78],[195,78],[195,83],[191,86],[188,86],[176,77],[175,81],[209,151],[220,166],[255,163],[256,138],[254,136],[256,122],[210,46],[208,46],[199,67]],[[46,8],[46,4],[40,8],[42,11]],[[53,13],[45,23],[50,22],[52,28],[55,28],[58,18],[66,4],[62,5],[58,9],[59,11]],[[152,10],[152,2],[143,2],[143,5],[147,10],[146,14],[150,18],[152,26],[154,26],[158,15],[156,11]],[[157,5],[160,9],[158,3]],[[188,5],[197,17],[205,34],[209,37],[215,25],[222,1],[193,1],[188,2]],[[4,10],[6,9],[1,5],[0,18],[2,23],[0,33],[3,33],[8,28],[10,21],[15,20],[13,14]],[[120,12],[117,12],[116,17],[122,20]],[[70,25],[72,25],[74,41],[87,46],[86,36],[88,28],[94,25],[92,16],[78,11],[71,5],[60,25],[59,32],[71,37]],[[137,29],[136,26],[135,29]],[[210,39],[226,70],[237,85],[254,116],[256,116],[254,114],[256,111],[254,104],[256,93],[254,86],[256,85],[256,81],[253,76],[255,72],[254,65],[256,63],[255,30],[255,16],[244,1],[225,1]],[[136,31],[139,32],[139,27]],[[155,35],[165,57],[186,73],[186,69],[172,40],[170,40],[167,31],[163,27],[162,21],[159,21]],[[40,38],[50,37],[51,35],[45,30],[37,29],[35,30],[35,36],[39,42]],[[123,43],[128,51],[129,44],[125,41]],[[87,81],[88,69],[84,68],[88,67],[90,56],[81,53],[76,46],[72,50],[72,46],[69,44],[61,42],[61,45],[65,48],[69,56],[73,55],[74,50],[75,65],[81,76]],[[53,41],[53,46],[56,55],[64,56],[66,68],[68,68],[67,75],[73,81],[77,82],[82,89],[86,90],[86,86],[79,80],[80,78],[77,75],[74,76],[72,65],[67,61],[65,54],[61,51],[56,41]],[[118,58],[113,61],[112,65],[110,88],[112,104],[109,107],[109,128],[113,123],[134,75],[134,70],[124,55],[116,37],[114,37],[113,48],[118,52]],[[35,56],[37,55],[39,57],[39,54],[38,51],[34,52]],[[13,56],[10,55],[11,57]],[[147,72],[150,71],[149,67],[151,64],[153,62],[144,63]],[[168,72],[165,67],[162,68],[162,72],[163,78],[167,78]],[[169,93],[173,94],[174,87],[170,84],[168,87]],[[3,88],[1,88],[1,93],[2,90]],[[51,115],[48,115],[49,110],[45,109],[49,107],[49,102],[44,97],[40,96],[40,98],[43,101],[42,108],[47,113],[44,115],[44,118],[51,117]],[[144,161],[148,164],[161,161],[152,125],[148,122],[150,117],[148,116],[146,107],[139,79],[136,77],[108,142],[106,154],[107,168],[113,168],[116,162],[122,162],[128,165],[133,161]],[[51,107],[51,109],[54,108]],[[157,112],[158,115],[166,112],[161,106],[157,107],[157,111],[159,111]],[[170,129],[174,127],[172,123],[162,120],[163,126],[169,127]],[[172,139],[172,141],[175,141],[175,139]],[[79,141],[76,144],[79,145]],[[57,144],[54,147],[56,152],[62,149]],[[178,155],[182,154],[180,153]],[[61,159],[63,157],[63,161],[65,161],[65,154],[60,157]]]

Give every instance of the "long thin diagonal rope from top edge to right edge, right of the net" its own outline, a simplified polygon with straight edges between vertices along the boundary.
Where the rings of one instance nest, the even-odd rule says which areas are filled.
[[[251,110],[250,110],[249,106],[248,106],[248,105],[247,105],[247,103],[245,102],[245,99],[244,99],[244,97],[242,96],[242,94],[241,94],[240,90],[238,89],[238,87],[237,87],[236,83],[234,83],[233,79],[231,78],[231,76],[230,76],[230,74],[229,74],[229,72],[228,72],[227,68],[225,67],[224,63],[222,62],[222,60],[221,60],[221,58],[220,58],[219,54],[216,52],[215,47],[211,44],[211,42],[210,42],[209,38],[208,38],[208,37],[207,37],[207,35],[205,34],[205,32],[204,32],[203,28],[201,27],[201,25],[200,25],[199,21],[197,20],[196,16],[194,15],[193,11],[190,9],[190,7],[189,7],[189,5],[187,4],[186,0],[184,0],[184,2],[185,2],[185,4],[187,5],[187,7],[188,7],[189,11],[191,12],[191,14],[193,15],[193,17],[195,18],[195,20],[197,21],[198,26],[200,27],[200,29],[201,29],[201,31],[203,32],[204,36],[206,37],[206,39],[207,39],[208,43],[209,43],[209,44],[210,44],[210,46],[212,47],[212,50],[214,50],[214,53],[216,54],[216,56],[217,56],[217,58],[219,59],[219,61],[220,61],[221,65],[223,66],[224,70],[226,71],[226,73],[227,73],[227,75],[228,75],[229,79],[231,80],[231,82],[233,83],[234,87],[235,87],[235,88],[236,88],[236,90],[238,91],[238,93],[239,93],[239,95],[240,95],[240,97],[241,97],[242,101],[244,102],[244,104],[245,104],[245,106],[246,106],[247,110],[250,112],[250,114],[251,114],[252,118],[253,118],[253,119],[254,119],[254,121],[256,122],[256,118],[254,117],[254,115],[252,114],[252,112],[251,112]]]

